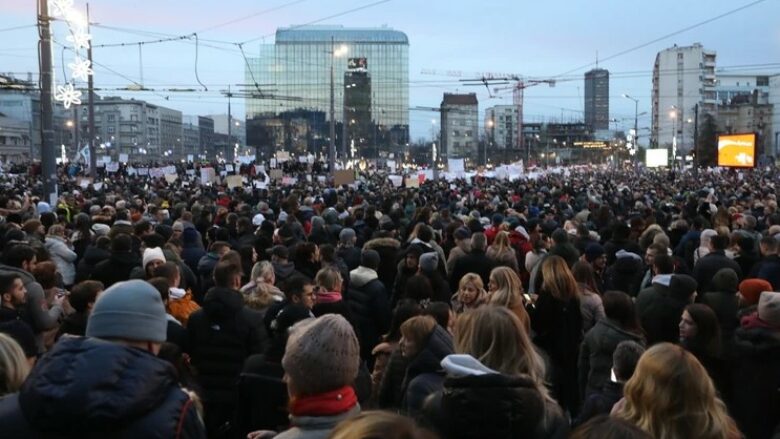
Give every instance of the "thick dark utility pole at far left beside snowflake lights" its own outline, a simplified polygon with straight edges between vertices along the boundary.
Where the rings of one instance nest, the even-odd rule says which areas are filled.
[[[51,31],[49,29],[49,2],[38,0],[38,56],[41,80],[41,176],[43,197],[52,206],[57,205],[57,164],[54,151],[54,106],[52,103]]]

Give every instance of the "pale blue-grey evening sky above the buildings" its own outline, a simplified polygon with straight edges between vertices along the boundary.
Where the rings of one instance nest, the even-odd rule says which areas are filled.
[[[32,27],[35,3],[32,0],[3,0],[0,6],[0,72],[37,73],[37,33]],[[75,0],[75,3],[85,5],[81,0]],[[315,21],[361,27],[387,25],[409,37],[411,107],[438,107],[445,91],[477,92],[480,116],[489,106],[511,104],[511,95],[490,99],[484,87],[464,87],[458,83],[458,78],[423,75],[424,69],[568,79],[555,88],[537,86],[526,90],[526,120],[535,121],[540,118],[582,118],[582,74],[592,67],[588,64],[595,62],[597,53],[599,58],[605,59],[752,2],[388,0],[326,19],[372,3],[378,3],[378,0],[92,0],[90,10],[91,21],[101,25],[93,27],[96,45],[147,41],[157,38],[158,34],[199,32],[202,39],[225,42],[257,39],[244,46],[249,56],[257,53],[262,41],[272,43],[274,31],[280,26]],[[275,10],[261,13],[269,9]],[[249,16],[252,17],[204,30]],[[622,93],[640,99],[639,112],[649,113],[655,54],[673,44],[701,42],[706,48],[717,51],[718,68],[780,73],[778,17],[780,0],[765,0],[601,62],[600,67],[613,74],[610,117],[625,118],[622,127],[633,124],[634,104],[622,98]],[[3,31],[25,25],[30,27]],[[56,38],[64,41],[64,24],[55,23],[54,32]],[[58,69],[61,68],[60,55],[59,50],[55,51]],[[95,49],[94,58],[100,63],[95,68],[98,87],[124,87],[131,80],[141,80],[137,45]],[[195,47],[190,42],[145,45],[142,60],[143,82],[147,87],[196,87],[198,84],[194,71]],[[746,67],[749,65],[763,66]],[[570,72],[582,66],[586,67]],[[569,73],[559,76],[564,72]],[[224,89],[226,84],[245,82],[243,58],[237,46],[211,42],[201,45],[198,73],[208,92],[175,95],[126,92],[123,95],[166,105],[185,114],[225,113],[227,102],[218,90]],[[163,95],[170,99],[164,100]],[[234,113],[243,117],[243,102],[234,100],[234,103]],[[433,118],[438,115],[410,112],[413,139],[430,136]],[[640,118],[640,127],[649,124],[649,115]]]

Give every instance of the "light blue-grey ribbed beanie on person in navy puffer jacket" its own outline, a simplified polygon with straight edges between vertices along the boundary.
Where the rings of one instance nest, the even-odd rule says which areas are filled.
[[[159,291],[146,281],[130,280],[100,294],[89,315],[86,335],[163,343],[167,329]]]

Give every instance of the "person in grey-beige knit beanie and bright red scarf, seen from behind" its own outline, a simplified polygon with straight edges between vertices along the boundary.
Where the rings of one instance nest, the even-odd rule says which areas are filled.
[[[360,346],[344,317],[327,314],[295,325],[282,366],[293,427],[276,439],[324,438],[340,422],[360,414],[352,387]]]

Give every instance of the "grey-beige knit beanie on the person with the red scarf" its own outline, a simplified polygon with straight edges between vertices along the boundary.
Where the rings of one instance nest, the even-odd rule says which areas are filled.
[[[360,366],[355,331],[338,314],[325,314],[293,326],[282,367],[296,393],[317,395],[350,385]]]

